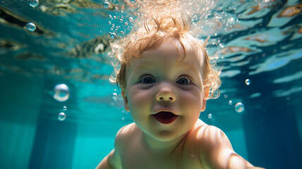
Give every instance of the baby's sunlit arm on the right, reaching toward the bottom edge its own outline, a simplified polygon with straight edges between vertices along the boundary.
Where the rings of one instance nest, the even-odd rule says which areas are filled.
[[[226,134],[217,127],[201,127],[198,142],[200,161],[205,168],[254,168],[234,152]]]

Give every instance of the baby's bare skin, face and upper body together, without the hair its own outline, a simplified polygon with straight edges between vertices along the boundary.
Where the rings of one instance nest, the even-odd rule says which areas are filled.
[[[186,52],[177,63],[183,49],[169,39],[132,58],[122,96],[135,123],[119,130],[115,149],[97,168],[254,168],[234,152],[222,130],[199,119],[209,94],[203,85],[203,56]],[[175,119],[158,120],[162,112]]]

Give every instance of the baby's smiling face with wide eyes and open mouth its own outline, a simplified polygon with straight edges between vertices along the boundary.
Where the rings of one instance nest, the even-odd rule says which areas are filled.
[[[157,49],[132,58],[126,68],[125,108],[148,136],[171,141],[188,132],[205,110],[203,58],[167,40]],[[180,57],[180,60],[179,60]],[[201,56],[203,57],[203,56]]]

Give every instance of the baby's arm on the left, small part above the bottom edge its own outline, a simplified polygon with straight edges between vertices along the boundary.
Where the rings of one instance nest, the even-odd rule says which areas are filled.
[[[97,165],[96,169],[119,169],[121,168],[121,159],[113,149],[102,161]]]

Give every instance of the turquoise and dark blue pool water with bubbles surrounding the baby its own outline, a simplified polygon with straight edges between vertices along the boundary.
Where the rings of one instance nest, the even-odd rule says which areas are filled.
[[[133,120],[109,81],[110,44],[144,1],[0,1],[0,168],[95,168],[114,149]],[[302,1],[183,4],[222,69],[200,119],[255,166],[301,168]]]

